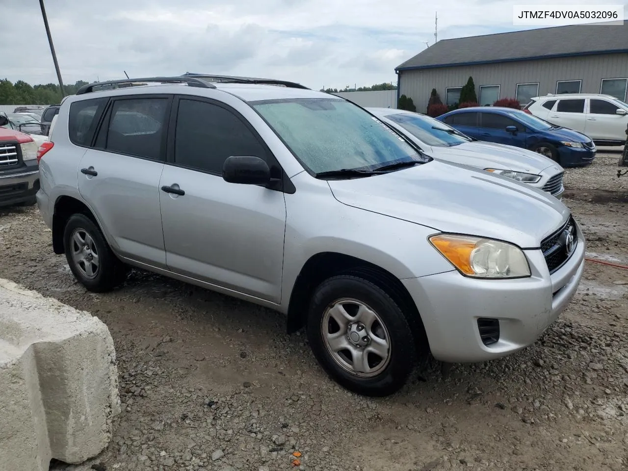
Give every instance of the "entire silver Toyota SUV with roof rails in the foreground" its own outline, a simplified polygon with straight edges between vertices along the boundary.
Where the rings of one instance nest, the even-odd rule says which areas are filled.
[[[63,101],[40,168],[53,249],[88,290],[134,266],[279,310],[361,394],[394,393],[430,351],[477,362],[532,344],[583,271],[556,198],[432,160],[291,82],[87,85]]]

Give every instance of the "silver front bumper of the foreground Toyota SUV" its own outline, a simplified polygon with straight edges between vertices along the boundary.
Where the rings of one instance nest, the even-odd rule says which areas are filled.
[[[549,274],[540,249],[526,250],[532,276],[474,279],[458,271],[401,280],[419,310],[432,355],[445,362],[495,359],[533,344],[565,310],[582,277],[585,241]],[[499,320],[499,340],[485,345],[479,318]]]

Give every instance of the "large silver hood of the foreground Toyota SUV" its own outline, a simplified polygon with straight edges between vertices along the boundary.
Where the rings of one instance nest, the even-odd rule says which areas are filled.
[[[328,183],[345,205],[523,248],[539,247],[570,214],[559,200],[530,185],[436,160]]]

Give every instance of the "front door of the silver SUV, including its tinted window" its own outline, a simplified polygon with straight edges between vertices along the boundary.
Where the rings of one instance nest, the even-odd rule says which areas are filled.
[[[284,195],[222,179],[229,156],[271,154],[235,111],[181,98],[171,162],[160,181],[171,271],[279,303],[286,228]],[[173,192],[173,188],[175,192]]]

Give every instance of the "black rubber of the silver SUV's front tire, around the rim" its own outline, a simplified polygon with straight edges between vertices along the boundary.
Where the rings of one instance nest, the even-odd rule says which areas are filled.
[[[345,367],[342,367],[338,363],[338,358],[342,359],[342,356],[339,353],[333,354],[331,348],[327,347],[326,334],[333,327],[332,324],[335,320],[330,318],[327,325],[323,325],[323,320],[330,306],[336,305],[338,300],[347,299],[363,303],[368,308],[371,308],[377,317],[381,318],[382,325],[379,325],[379,320],[371,324],[371,327],[376,325],[375,328],[379,329],[381,333],[377,335],[369,331],[371,335],[381,338],[382,333],[387,334],[384,335],[384,337],[387,337],[389,345],[387,360],[381,360],[379,362],[380,365],[377,366],[377,355],[373,357],[371,354],[367,354],[367,365],[371,364],[371,360],[375,360],[373,362],[375,365],[374,369],[381,368],[381,371],[377,371],[376,374],[371,373],[374,374],[371,377],[360,376],[363,375],[362,372],[349,371],[347,364],[345,364]],[[352,301],[347,301],[347,304],[354,304]],[[355,309],[357,312],[357,306]],[[336,324],[338,325],[336,333],[345,332],[337,322]],[[358,326],[357,328],[359,329],[360,327]],[[327,329],[327,332],[325,332],[325,329]],[[367,331],[362,330],[362,332]],[[311,349],[327,374],[340,385],[357,394],[363,394],[364,396],[388,396],[393,394],[404,386],[416,366],[414,333],[403,311],[386,291],[371,283],[371,281],[358,276],[334,276],[323,281],[318,286],[310,301],[307,334]],[[345,340],[344,335],[341,334],[338,338],[340,337],[342,337],[343,341]],[[349,333],[347,333],[346,340],[347,345],[351,345],[349,344]],[[373,342],[373,345],[375,344],[376,342]],[[364,347],[364,349],[367,348],[368,346]],[[346,352],[346,355],[351,350],[342,351]],[[347,355],[348,357],[349,355]]]

